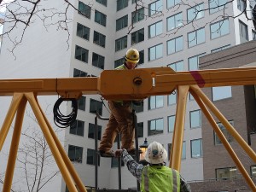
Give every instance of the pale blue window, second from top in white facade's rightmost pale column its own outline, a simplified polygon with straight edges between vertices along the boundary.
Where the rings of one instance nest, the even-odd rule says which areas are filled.
[[[211,39],[222,37],[230,33],[230,21],[220,20],[216,23],[211,24]]]

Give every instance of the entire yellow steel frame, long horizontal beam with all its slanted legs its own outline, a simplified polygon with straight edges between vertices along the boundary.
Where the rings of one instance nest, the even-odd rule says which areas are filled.
[[[218,109],[215,108],[207,96],[205,96],[198,88],[247,84],[256,84],[256,67],[212,69],[190,72],[174,72],[170,67],[154,67],[135,70],[105,70],[99,77],[88,78],[2,79],[0,80],[0,96],[13,96],[13,100],[0,130],[0,149],[3,148],[3,143],[7,137],[9,127],[16,112],[15,135],[19,135],[24,115],[23,110],[26,105],[24,103],[24,98],[26,98],[38,119],[44,137],[46,138],[49,148],[55,157],[55,161],[60,168],[61,174],[67,183],[67,188],[71,192],[77,192],[77,186],[80,191],[86,192],[84,183],[79,178],[73,164],[69,160],[64,148],[61,146],[52,127],[49,125],[49,121],[46,119],[40,108],[37,96],[60,95],[63,98],[79,98],[82,95],[98,94],[108,100],[132,100],[144,99],[148,96],[169,95],[173,90],[178,90],[177,114],[172,138],[170,166],[180,170],[184,116],[188,90],[190,90],[194,94],[195,100],[199,103],[203,112],[206,113],[207,119],[210,121],[214,131],[216,131],[218,136],[222,139],[225,148],[227,148],[240,172],[246,178],[249,187],[253,189],[253,191],[256,191],[255,183],[252,183],[251,179],[248,177],[247,172],[241,165],[241,162],[237,160],[238,158],[232,148],[230,148],[229,143],[225,142],[224,136],[217,129],[217,125],[208,114],[205,105],[212,110],[216,117],[226,127],[227,131],[230,131],[230,134],[256,163],[255,152],[230,125],[228,120],[218,112]],[[20,123],[18,123],[18,121]],[[16,141],[12,141],[12,153],[10,155],[16,155],[16,147],[19,143],[19,138],[20,136],[13,137],[13,140],[15,139]],[[5,178],[4,192],[10,191],[13,177],[14,166],[11,164],[15,165],[15,161],[10,160],[11,158],[14,158],[14,156],[9,156],[7,167],[8,178]]]

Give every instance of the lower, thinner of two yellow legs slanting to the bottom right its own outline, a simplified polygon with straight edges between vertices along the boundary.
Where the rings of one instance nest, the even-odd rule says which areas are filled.
[[[246,179],[246,181],[247,181],[248,185],[250,186],[250,188],[253,189],[253,191],[256,191],[256,186],[253,183],[253,179],[249,176],[249,174],[247,173],[247,171],[244,168],[244,166],[242,166],[241,161],[237,157],[235,151],[233,150],[233,148],[231,148],[230,143],[227,141],[226,137],[224,137],[223,132],[219,129],[219,127],[216,124],[215,120],[212,118],[211,113],[208,111],[208,109],[205,106],[205,104],[201,101],[201,97],[198,96],[195,93],[195,90],[200,91],[199,87],[193,86],[191,94],[194,96],[196,102],[199,104],[202,112],[205,113],[209,123],[212,125],[213,130],[216,132],[216,134],[218,135],[218,138],[224,144],[224,147],[227,149],[227,151],[230,154],[230,157],[232,158],[232,160],[234,160],[236,166],[238,167],[238,169],[241,172],[242,176]]]

